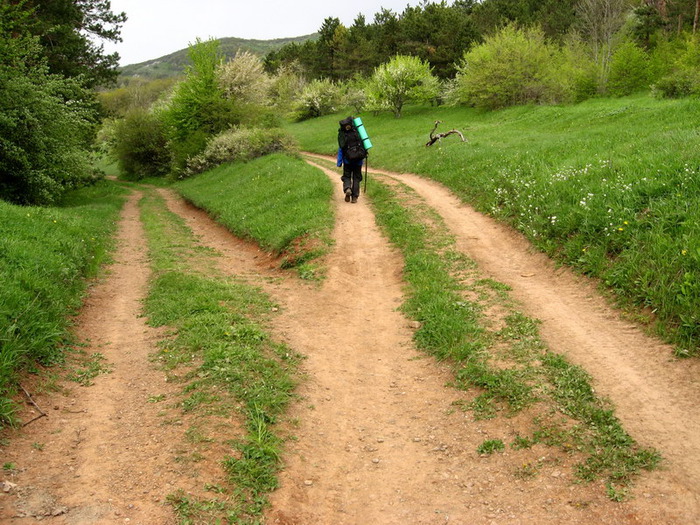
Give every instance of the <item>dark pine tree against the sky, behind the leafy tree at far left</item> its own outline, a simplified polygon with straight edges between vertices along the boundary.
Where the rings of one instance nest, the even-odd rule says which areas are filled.
[[[49,71],[65,77],[81,76],[86,87],[117,78],[119,55],[106,55],[95,40],[120,42],[125,13],[114,14],[109,0],[26,0],[31,13],[27,30],[39,37]]]

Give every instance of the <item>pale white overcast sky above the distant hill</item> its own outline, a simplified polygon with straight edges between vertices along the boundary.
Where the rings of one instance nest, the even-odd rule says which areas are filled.
[[[117,51],[120,65],[159,58],[194,43],[196,38],[238,37],[271,40],[318,31],[329,16],[352,25],[358,14],[367,22],[382,8],[402,13],[420,0],[111,0],[112,12],[125,12]]]

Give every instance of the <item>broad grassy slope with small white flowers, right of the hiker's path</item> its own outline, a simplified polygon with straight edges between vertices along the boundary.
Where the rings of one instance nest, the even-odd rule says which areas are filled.
[[[335,152],[341,115],[293,124],[302,148]],[[468,139],[445,138],[457,128]],[[363,115],[370,166],[418,173],[597,277],[677,346],[700,350],[700,100],[648,96],[575,106],[409,107]]]

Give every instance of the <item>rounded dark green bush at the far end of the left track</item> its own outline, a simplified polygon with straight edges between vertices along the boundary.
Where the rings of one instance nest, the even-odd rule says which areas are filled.
[[[128,180],[163,176],[170,170],[163,124],[143,109],[134,109],[116,122],[113,153]]]

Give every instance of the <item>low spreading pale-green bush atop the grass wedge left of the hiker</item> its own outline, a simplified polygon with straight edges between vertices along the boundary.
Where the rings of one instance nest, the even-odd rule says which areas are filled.
[[[279,128],[236,127],[219,133],[207,143],[204,151],[187,162],[183,176],[189,177],[234,161],[249,161],[277,152],[292,153],[296,144]]]

